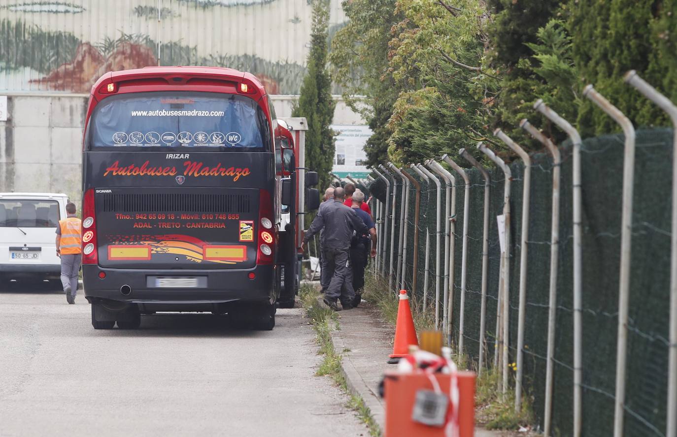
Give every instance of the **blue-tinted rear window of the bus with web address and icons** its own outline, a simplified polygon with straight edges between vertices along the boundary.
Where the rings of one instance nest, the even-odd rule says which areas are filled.
[[[107,97],[90,122],[89,149],[208,147],[262,149],[268,122],[242,95],[154,92]]]

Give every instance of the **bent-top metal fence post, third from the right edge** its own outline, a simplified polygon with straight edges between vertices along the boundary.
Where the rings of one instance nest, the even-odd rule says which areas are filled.
[[[583,223],[581,193],[581,145],[578,131],[550,109],[542,99],[533,108],[554,122],[571,139],[571,183],[573,200],[573,437],[580,437],[583,405]]]

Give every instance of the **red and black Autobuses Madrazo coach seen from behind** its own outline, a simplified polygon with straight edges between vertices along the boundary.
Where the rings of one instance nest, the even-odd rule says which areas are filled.
[[[85,126],[93,327],[211,311],[272,329],[276,302],[291,306],[297,292],[297,229],[280,220],[284,205],[297,214],[298,183],[293,137],[259,80],[228,68],[108,72],[91,89]]]

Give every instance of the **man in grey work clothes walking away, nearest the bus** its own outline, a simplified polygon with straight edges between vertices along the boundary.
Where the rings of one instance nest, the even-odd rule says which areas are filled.
[[[341,187],[336,187],[334,201],[328,202],[327,206],[318,210],[318,215],[315,216],[310,229],[305,233],[301,245],[301,248],[305,249],[308,240],[324,229],[322,256],[326,259],[328,273],[331,273],[332,278],[324,296],[324,303],[334,311],[341,311],[336,303],[339,298],[344,309],[352,308],[351,302],[355,298],[355,290],[353,290],[351,281],[345,280],[351,269],[348,254],[350,240],[353,237],[353,231],[357,231],[358,235],[369,232],[364,221],[355,214],[352,208],[343,204],[344,199],[345,191]]]

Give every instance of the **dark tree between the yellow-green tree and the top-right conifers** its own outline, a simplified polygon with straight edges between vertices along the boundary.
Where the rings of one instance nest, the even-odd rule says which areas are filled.
[[[563,139],[561,131],[548,129],[546,118],[533,110],[533,102],[542,98],[565,118],[573,115],[575,119],[571,109],[575,104],[567,103],[567,108],[562,105],[571,97],[568,89],[572,84],[563,85],[570,76],[567,67],[573,68],[570,41],[562,22],[552,20],[561,14],[562,2],[489,0],[487,3],[492,12],[487,24],[487,61],[502,73],[494,124],[527,148],[543,146],[519,129],[522,118],[529,118],[556,139]],[[559,86],[550,83],[552,78]],[[567,96],[562,99],[559,97],[561,87],[567,89]]]

